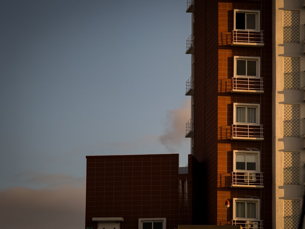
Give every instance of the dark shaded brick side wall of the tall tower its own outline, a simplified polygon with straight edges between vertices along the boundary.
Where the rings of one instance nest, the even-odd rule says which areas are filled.
[[[205,163],[209,224],[217,220],[218,2],[195,3],[194,156]]]

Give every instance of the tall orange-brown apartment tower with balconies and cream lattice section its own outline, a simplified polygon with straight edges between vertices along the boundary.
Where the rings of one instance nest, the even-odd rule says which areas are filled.
[[[185,137],[205,171],[206,223],[297,228],[305,181],[304,1],[187,4]]]

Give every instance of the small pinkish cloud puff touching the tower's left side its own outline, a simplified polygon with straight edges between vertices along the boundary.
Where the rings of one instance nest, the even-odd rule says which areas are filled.
[[[191,116],[190,102],[189,99],[181,107],[167,113],[165,130],[159,140],[170,153],[176,152],[177,147],[185,141],[185,123]]]

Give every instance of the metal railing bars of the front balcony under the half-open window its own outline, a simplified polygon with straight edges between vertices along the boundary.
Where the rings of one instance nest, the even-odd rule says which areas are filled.
[[[264,44],[263,30],[253,32],[251,30],[236,31],[232,30],[233,44],[234,43],[258,43]]]

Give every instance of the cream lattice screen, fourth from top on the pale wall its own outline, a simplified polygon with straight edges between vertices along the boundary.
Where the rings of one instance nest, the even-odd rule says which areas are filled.
[[[300,185],[300,152],[283,152],[283,184]]]

